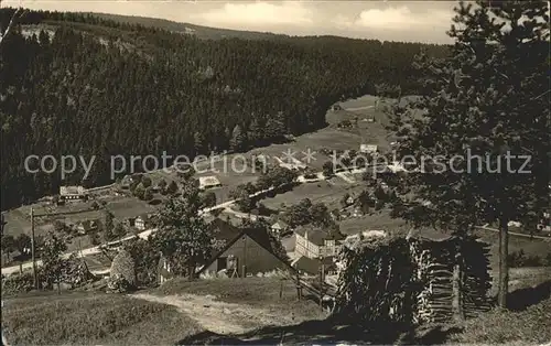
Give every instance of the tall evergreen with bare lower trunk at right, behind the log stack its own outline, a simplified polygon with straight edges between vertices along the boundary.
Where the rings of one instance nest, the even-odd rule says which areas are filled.
[[[493,4],[460,4],[450,31],[453,54],[418,62],[426,97],[409,108],[426,113],[419,121],[398,109],[391,129],[398,153],[418,162],[417,173],[398,181],[397,214],[460,237],[497,221],[498,303],[505,307],[508,223],[529,223],[549,205],[549,9],[543,1]],[[422,156],[437,155],[440,163],[424,160],[419,172]],[[454,155],[465,159],[451,169]]]

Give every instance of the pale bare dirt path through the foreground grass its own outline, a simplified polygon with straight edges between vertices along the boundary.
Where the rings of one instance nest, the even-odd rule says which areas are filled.
[[[129,296],[175,306],[181,313],[193,318],[205,329],[217,334],[242,334],[274,322],[291,323],[291,321],[281,321],[287,320],[282,318],[281,314],[245,304],[216,301],[212,295],[183,294],[159,296],[138,293]]]

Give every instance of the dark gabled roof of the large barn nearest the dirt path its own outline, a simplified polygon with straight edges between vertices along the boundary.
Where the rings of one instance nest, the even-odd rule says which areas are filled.
[[[196,275],[198,275],[202,272],[204,272],[205,270],[207,270],[207,268],[210,264],[213,264],[218,259],[218,257],[220,257],[224,252],[226,252],[227,249],[229,249],[234,244],[236,244],[237,240],[241,239],[241,237],[244,237],[244,236],[247,236],[249,239],[257,242],[260,247],[262,247],[264,250],[267,250],[273,257],[279,259],[282,263],[284,263],[289,269],[291,269],[292,271],[295,271],[295,269],[293,267],[291,267],[291,264],[289,264],[289,262],[287,260],[282,259],[273,251],[273,249],[270,245],[270,236],[268,235],[268,233],[266,233],[266,230],[262,231],[259,229],[240,229],[240,228],[237,228],[237,227],[224,221],[220,218],[214,219],[209,225],[212,225],[210,227],[218,228],[218,233],[215,234],[215,237],[218,240],[226,240],[229,237],[231,237],[231,235],[234,235],[234,236],[230,240],[226,241],[226,245],[224,246],[223,249],[220,249],[219,251],[217,251],[216,253],[214,253],[212,256],[212,258],[205,263],[205,266],[203,266],[203,268],[198,272],[195,273]],[[236,234],[236,230],[237,230],[237,234]],[[222,239],[222,238],[225,238],[225,239]]]

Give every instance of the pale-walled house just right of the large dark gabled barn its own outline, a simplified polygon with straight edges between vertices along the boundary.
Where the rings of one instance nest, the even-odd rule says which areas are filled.
[[[294,230],[296,256],[323,258],[335,256],[341,250],[345,238],[338,231],[322,230],[312,226],[301,226]]]

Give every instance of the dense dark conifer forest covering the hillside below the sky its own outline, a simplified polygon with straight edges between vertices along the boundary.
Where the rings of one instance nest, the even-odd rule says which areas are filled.
[[[0,10],[0,25],[12,12]],[[201,40],[76,13],[23,21],[0,47],[2,209],[57,193],[58,173],[25,172],[30,154],[97,155],[84,184],[106,184],[111,154],[245,150],[324,127],[329,105],[376,84],[414,94],[413,56],[447,52],[343,37]]]

